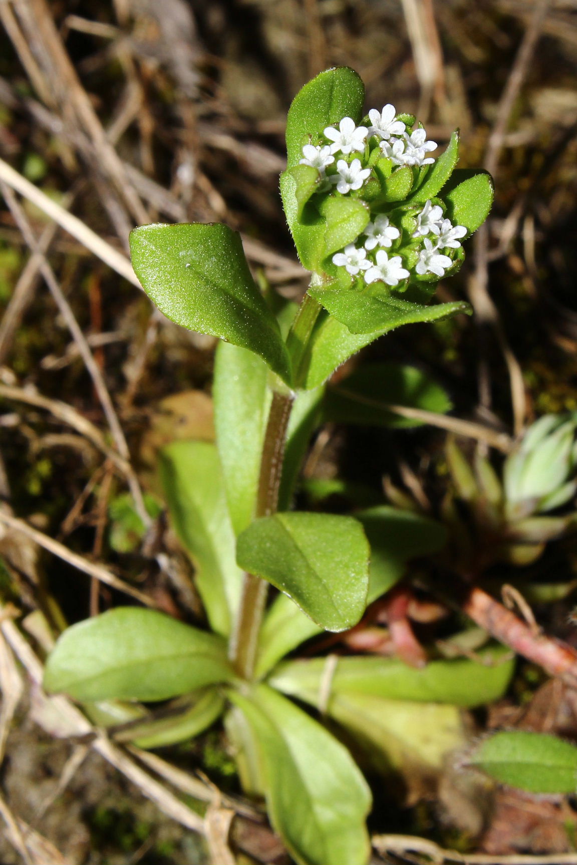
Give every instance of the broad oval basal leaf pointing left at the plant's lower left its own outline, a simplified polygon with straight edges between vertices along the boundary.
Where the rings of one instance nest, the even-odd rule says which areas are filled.
[[[64,631],[44,688],[80,701],[155,701],[233,679],[221,638],[156,610],[119,606]]]

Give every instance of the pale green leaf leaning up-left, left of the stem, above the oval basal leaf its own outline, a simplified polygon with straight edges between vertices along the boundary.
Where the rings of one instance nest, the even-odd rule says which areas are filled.
[[[215,445],[178,441],[161,452],[160,475],[176,534],[196,567],[195,582],[214,631],[230,633],[240,601],[221,463]]]

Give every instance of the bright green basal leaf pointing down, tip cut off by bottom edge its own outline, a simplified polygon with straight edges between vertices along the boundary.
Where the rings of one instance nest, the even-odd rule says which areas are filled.
[[[324,727],[266,685],[230,694],[253,728],[272,826],[298,865],[366,865],[369,788]]]

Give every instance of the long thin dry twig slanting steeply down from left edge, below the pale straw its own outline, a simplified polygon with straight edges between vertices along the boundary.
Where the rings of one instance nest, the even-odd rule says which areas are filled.
[[[40,253],[40,249],[32,232],[32,228],[30,227],[29,220],[24,214],[24,211],[22,210],[20,204],[16,201],[16,195],[14,195],[12,189],[10,189],[10,187],[3,183],[2,180],[0,180],[0,189],[2,189],[3,196],[6,199],[6,203],[8,204],[12,215],[14,215],[16,224],[20,228],[22,236],[28,243],[30,249],[34,250],[38,254],[42,254]],[[74,337],[74,342],[78,345],[82,360],[84,361],[88,373],[93,380],[94,389],[96,390],[100,405],[102,406],[102,409],[106,415],[106,420],[108,422],[108,426],[110,426],[112,438],[114,439],[114,442],[118,448],[119,454],[122,458],[126,460],[127,463],[130,464],[130,451],[126,443],[125,434],[122,430],[122,426],[120,426],[116,410],[112,405],[112,399],[110,394],[108,393],[108,388],[106,388],[104,376],[102,375],[97,362],[94,360],[93,353],[87,343],[87,338],[86,336],[84,336],[80,325],[76,321],[74,312],[72,311],[70,304],[68,304],[68,301],[65,298],[56,277],[54,276],[54,271],[52,270],[52,267],[48,264],[48,261],[44,256],[42,256],[40,272],[42,273],[42,278],[48,285],[48,289],[52,294],[59,310],[61,311],[62,317],[67,323],[68,330],[70,330],[70,333]],[[140,489],[138,478],[133,471],[131,471],[128,475],[127,482],[129,489],[131,490],[131,496],[134,499],[135,508],[138,511],[138,516],[144,522],[144,525],[148,527],[151,525],[151,517],[148,515],[148,511],[146,510],[146,506],[144,505],[142,490]]]

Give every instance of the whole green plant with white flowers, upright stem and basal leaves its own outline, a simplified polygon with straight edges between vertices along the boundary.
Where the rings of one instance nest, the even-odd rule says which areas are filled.
[[[120,702],[131,701],[125,738],[148,747],[187,739],[226,713],[240,779],[247,792],[266,797],[272,824],[300,865],[367,862],[370,793],[349,750],[286,695],[321,708],[359,742],[373,742],[389,766],[402,765],[422,725],[436,725],[442,743],[420,754],[430,768],[443,748],[462,743],[458,706],[501,694],[511,670],[507,662],[464,659],[408,671],[395,660],[379,659],[375,669],[374,658],[345,659],[329,674],[324,660],[279,666],[306,639],[356,625],[412,555],[445,541],[438,523],[392,508],[356,516],[291,509],[322,413],[359,419],[350,392],[325,401],[334,370],[401,324],[469,312],[462,302],[431,301],[439,279],[458,271],[461,240],[492,201],[489,175],[455,169],[457,132],[433,159],[436,145],[414,117],[384,106],[362,119],[363,99],[356,73],[330,69],[298,93],[288,115],[281,194],[298,256],[311,271],[298,309],[276,298],[272,310],[227,226],[150,225],[131,234],[135,271],[163,313],[222,340],[217,446],[177,442],[161,464],[213,632],[153,610],[117,608],[65,631],[45,677],[49,691],[66,691],[101,722],[110,701],[116,721]],[[449,407],[416,370],[389,365],[382,373],[397,394],[388,401]],[[362,375],[349,385],[360,393],[368,387]],[[281,593],[267,606],[271,584]],[[494,650],[496,661],[501,654]],[[134,705],[170,699],[168,721]],[[411,726],[414,701],[421,708]]]

